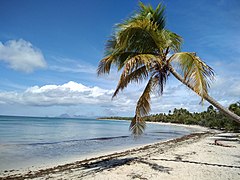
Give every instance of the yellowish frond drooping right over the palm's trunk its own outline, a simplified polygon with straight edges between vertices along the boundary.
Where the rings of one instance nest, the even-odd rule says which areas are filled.
[[[196,53],[176,53],[169,58],[169,62],[178,63],[184,81],[202,97],[202,102],[204,95],[208,94],[210,83],[214,78],[213,69],[197,57]]]

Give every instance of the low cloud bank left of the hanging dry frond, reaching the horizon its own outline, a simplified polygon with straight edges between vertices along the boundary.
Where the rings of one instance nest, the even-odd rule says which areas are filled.
[[[79,111],[81,109],[83,111],[77,114],[93,111],[100,116],[107,112],[116,115],[133,114],[137,100],[136,93],[124,92],[112,100],[113,92],[111,89],[88,87],[70,81],[62,85],[33,86],[23,92],[0,92],[0,104],[13,107],[35,107],[39,111],[44,107],[52,111],[60,107],[67,107],[69,110],[78,107]],[[0,110],[0,114],[6,113]]]

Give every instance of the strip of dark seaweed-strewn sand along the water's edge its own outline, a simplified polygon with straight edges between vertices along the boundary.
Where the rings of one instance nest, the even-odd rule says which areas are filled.
[[[124,156],[134,156],[138,153],[146,153],[149,151],[149,149],[154,149],[156,146],[161,145],[170,145],[177,146],[172,144],[176,142],[182,142],[185,140],[194,140],[194,138],[199,138],[202,136],[210,135],[211,132],[202,132],[202,133],[191,133],[189,135],[182,136],[180,138],[170,139],[167,141],[157,142],[153,144],[147,144],[141,147],[135,147],[135,148],[129,148],[122,151],[116,151],[116,152],[108,152],[105,155],[96,155],[95,157],[89,157],[87,159],[74,161],[72,163],[66,163],[58,166],[52,166],[52,167],[42,167],[40,169],[26,169],[26,170],[9,170],[5,171],[3,174],[0,175],[0,179],[25,179],[25,178],[40,178],[44,176],[54,175],[55,173],[64,173],[65,171],[69,171],[71,169],[76,169],[79,167],[86,167],[86,165],[94,164],[94,163],[107,163],[109,160],[115,159],[115,158],[121,158]],[[164,148],[166,150],[166,147]],[[144,152],[147,151],[147,152]],[[125,163],[125,161],[124,161]],[[118,163],[117,163],[118,164]],[[110,165],[112,166],[112,165]],[[84,177],[84,176],[83,176]],[[53,178],[54,179],[54,178]]]

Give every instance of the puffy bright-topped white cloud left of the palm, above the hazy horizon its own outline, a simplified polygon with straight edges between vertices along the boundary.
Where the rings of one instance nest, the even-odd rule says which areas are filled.
[[[0,92],[0,101],[30,106],[103,104],[111,101],[112,93],[112,90],[70,81],[63,85],[33,86],[22,93]]]

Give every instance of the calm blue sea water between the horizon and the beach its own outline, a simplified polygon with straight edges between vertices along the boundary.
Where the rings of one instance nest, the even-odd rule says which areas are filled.
[[[69,162],[191,133],[185,127],[147,124],[144,135],[134,139],[129,123],[0,116],[0,171]]]

